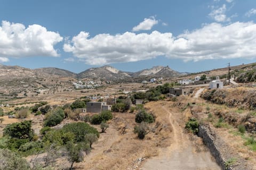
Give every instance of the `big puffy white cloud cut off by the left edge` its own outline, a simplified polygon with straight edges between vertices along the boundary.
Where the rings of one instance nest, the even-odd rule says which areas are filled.
[[[63,39],[41,25],[26,28],[21,23],[7,21],[2,21],[0,37],[0,55],[7,57],[59,56],[53,46]]]

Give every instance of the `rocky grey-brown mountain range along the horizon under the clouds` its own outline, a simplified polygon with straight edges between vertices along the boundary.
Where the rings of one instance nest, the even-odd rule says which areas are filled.
[[[143,77],[178,77],[183,75],[170,69],[169,66],[154,66],[151,69],[145,69],[138,72],[124,72],[115,69],[112,66],[102,66],[87,69],[81,73],[73,73],[67,70],[54,67],[45,67],[40,69],[27,69],[21,66],[0,65],[0,79],[22,79],[31,77],[71,77],[77,79],[101,79],[101,80],[122,80],[129,78]]]

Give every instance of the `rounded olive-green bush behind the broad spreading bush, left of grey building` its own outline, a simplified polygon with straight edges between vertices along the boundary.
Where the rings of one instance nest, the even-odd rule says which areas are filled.
[[[65,113],[62,108],[57,108],[53,112],[48,113],[44,120],[44,126],[55,126],[65,118]]]

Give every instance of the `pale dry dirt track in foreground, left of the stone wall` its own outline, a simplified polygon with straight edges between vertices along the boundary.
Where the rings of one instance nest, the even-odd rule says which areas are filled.
[[[183,132],[182,113],[170,112],[167,106],[159,108],[159,112],[169,114],[170,125],[172,126],[171,146],[164,149],[158,157],[150,158],[141,170],[167,170],[167,169],[221,169],[209,151],[195,152],[195,146]]]

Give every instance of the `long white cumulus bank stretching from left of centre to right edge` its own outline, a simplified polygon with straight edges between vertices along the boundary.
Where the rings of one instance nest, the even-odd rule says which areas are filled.
[[[186,31],[177,37],[172,33],[125,32],[118,35],[99,34],[89,38],[88,32],[80,32],[65,52],[71,52],[78,60],[91,65],[135,62],[157,56],[199,61],[218,58],[252,58],[256,56],[256,24],[235,22],[205,24],[201,29]]]

